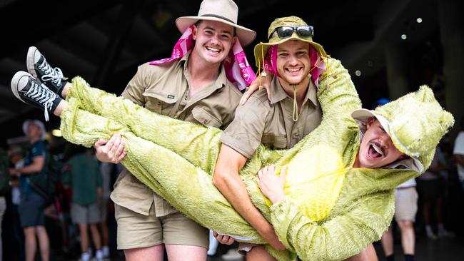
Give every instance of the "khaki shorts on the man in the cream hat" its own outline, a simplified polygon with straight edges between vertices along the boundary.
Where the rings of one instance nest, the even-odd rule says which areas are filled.
[[[118,222],[118,249],[153,245],[194,245],[208,249],[209,230],[176,211],[156,217],[153,205],[142,215],[114,204]]]

